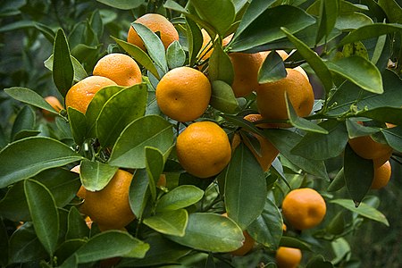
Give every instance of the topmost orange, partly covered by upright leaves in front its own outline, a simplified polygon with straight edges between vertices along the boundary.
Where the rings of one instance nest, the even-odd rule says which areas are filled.
[[[166,49],[174,41],[179,41],[179,33],[174,28],[172,22],[168,21],[165,17],[163,17],[163,15],[147,13],[139,17],[134,22],[147,26],[147,28],[151,29],[153,32],[159,32],[164,49]],[[144,46],[144,42],[138,36],[135,29],[131,26],[127,34],[127,42],[140,47],[144,51],[147,50],[147,48]]]

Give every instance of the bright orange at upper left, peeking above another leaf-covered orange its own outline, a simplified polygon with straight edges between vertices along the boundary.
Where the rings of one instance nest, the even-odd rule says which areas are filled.
[[[106,54],[96,63],[93,73],[113,80],[122,87],[130,87],[142,81],[138,64],[127,54]]]

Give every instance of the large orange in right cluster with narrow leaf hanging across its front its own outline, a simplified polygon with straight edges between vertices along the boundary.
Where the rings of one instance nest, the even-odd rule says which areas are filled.
[[[287,120],[285,92],[300,117],[311,113],[314,105],[314,91],[305,76],[299,71],[286,69],[286,78],[260,84],[256,90],[258,112],[266,120]]]

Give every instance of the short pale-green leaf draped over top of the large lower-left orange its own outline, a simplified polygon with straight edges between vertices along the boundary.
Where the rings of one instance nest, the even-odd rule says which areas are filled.
[[[119,168],[107,163],[93,162],[83,159],[80,163],[80,179],[88,191],[100,191],[112,180]]]

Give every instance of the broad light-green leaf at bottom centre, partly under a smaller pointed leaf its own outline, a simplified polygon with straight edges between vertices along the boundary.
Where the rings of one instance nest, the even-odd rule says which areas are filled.
[[[230,252],[242,246],[243,231],[229,218],[210,213],[189,214],[183,237],[169,239],[187,247],[212,252]]]

